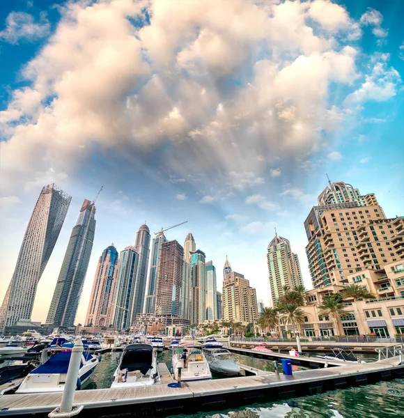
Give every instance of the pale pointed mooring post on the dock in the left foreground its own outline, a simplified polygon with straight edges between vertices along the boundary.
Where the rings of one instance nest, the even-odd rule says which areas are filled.
[[[72,417],[79,414],[84,408],[84,405],[80,405],[73,410],[73,400],[75,398],[83,350],[84,347],[81,336],[78,336],[75,345],[72,348],[72,355],[70,356],[68,375],[66,376],[65,387],[63,388],[61,406],[50,412],[48,415],[49,418]]]

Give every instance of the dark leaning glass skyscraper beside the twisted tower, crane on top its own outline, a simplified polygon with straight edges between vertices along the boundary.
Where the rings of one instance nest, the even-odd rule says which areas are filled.
[[[72,230],[65,252],[52,302],[47,314],[47,324],[71,327],[90,261],[95,234],[95,205],[84,199],[79,218]]]

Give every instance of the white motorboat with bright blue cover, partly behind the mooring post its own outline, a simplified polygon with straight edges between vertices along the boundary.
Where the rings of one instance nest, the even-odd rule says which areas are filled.
[[[31,371],[17,389],[17,394],[43,394],[63,392],[68,373],[71,351],[62,351],[50,357],[47,362]],[[81,355],[77,389],[90,378],[99,363],[98,357],[88,352]]]

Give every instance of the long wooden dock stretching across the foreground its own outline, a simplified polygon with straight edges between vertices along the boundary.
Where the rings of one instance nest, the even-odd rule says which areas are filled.
[[[168,370],[164,371],[164,380]],[[236,408],[255,402],[318,394],[327,390],[365,385],[401,378],[404,364],[398,357],[380,362],[346,364],[300,371],[293,376],[265,374],[201,382],[171,388],[165,384],[122,389],[95,389],[75,392],[75,405],[84,405],[81,416],[139,417],[189,414],[201,410]],[[15,394],[0,396],[0,416],[42,415],[61,403],[62,394]]]

